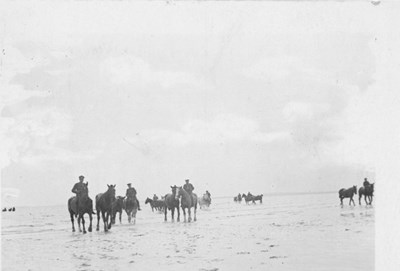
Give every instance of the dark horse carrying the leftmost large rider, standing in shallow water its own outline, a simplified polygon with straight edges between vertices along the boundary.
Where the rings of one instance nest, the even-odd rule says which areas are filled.
[[[71,217],[71,223],[72,223],[72,231],[75,232],[75,225],[74,225],[74,216],[75,218],[78,217],[78,228],[79,231],[81,232],[81,220],[82,220],[82,226],[83,226],[83,233],[86,233],[85,229],[85,219],[83,217],[84,214],[89,215],[90,219],[90,224],[89,224],[89,232],[92,231],[92,214],[93,212],[93,201],[89,198],[89,189],[88,189],[88,183],[84,184],[84,188],[81,191],[79,195],[78,200],[78,206],[76,204],[77,197],[71,197],[68,200],[68,211],[69,215]]]

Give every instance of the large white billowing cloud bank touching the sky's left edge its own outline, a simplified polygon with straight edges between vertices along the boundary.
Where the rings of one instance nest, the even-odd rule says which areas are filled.
[[[28,102],[46,98],[48,92],[24,89],[12,83],[15,76],[45,65],[40,57],[27,59],[13,47],[6,46],[0,78],[0,163],[38,165],[45,161],[92,159],[95,153],[73,152],[62,148],[71,134],[73,120],[68,112],[56,107]]]

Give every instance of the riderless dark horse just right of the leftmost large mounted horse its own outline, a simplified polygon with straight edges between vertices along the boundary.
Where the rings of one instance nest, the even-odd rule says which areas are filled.
[[[105,193],[97,194],[96,210],[97,210],[97,227],[99,230],[100,212],[104,222],[104,231],[111,229],[112,203],[115,201],[115,185],[107,184],[108,189]],[[110,222],[108,219],[110,218]]]

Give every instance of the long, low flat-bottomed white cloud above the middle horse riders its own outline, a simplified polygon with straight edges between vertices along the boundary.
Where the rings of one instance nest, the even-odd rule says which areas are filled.
[[[187,144],[220,144],[231,142],[271,143],[285,140],[286,132],[262,132],[254,120],[234,115],[219,115],[211,121],[193,120],[179,131],[145,130],[126,140],[148,151],[155,145],[185,146]]]

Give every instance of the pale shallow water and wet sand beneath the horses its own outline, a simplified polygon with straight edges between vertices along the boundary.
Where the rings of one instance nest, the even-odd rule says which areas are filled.
[[[336,194],[213,199],[191,223],[182,213],[164,222],[142,203],[135,225],[123,214],[96,232],[94,217],[87,234],[71,231],[66,206],[21,207],[2,213],[2,270],[374,270],[374,207],[338,203]]]

